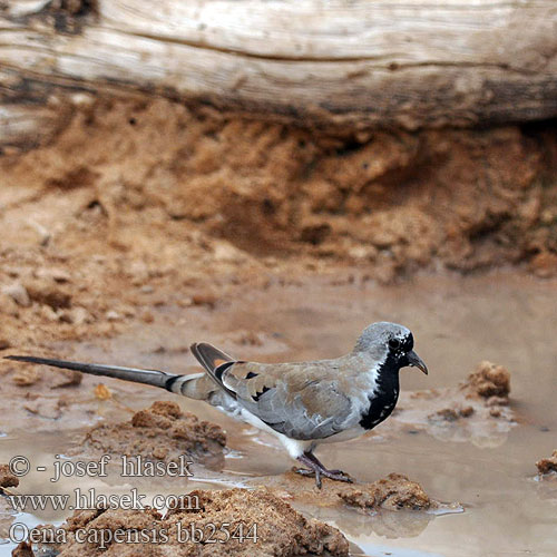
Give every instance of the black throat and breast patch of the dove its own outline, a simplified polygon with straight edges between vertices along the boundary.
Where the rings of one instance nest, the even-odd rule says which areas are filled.
[[[394,356],[388,355],[379,368],[375,392],[368,395],[370,405],[362,413],[360,426],[363,429],[373,429],[378,423],[389,418],[399,400],[399,370],[400,365]]]

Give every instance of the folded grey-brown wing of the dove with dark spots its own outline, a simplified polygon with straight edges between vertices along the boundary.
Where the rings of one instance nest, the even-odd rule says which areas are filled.
[[[292,439],[324,439],[342,431],[351,413],[336,362],[237,362],[221,380],[242,407],[275,431]]]

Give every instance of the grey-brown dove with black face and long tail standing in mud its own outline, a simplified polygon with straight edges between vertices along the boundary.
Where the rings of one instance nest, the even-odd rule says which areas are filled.
[[[329,470],[315,457],[321,443],[356,438],[384,421],[399,399],[399,370],[428,368],[413,351],[413,335],[403,325],[367,326],[353,350],[330,360],[258,363],[236,360],[206,342],[190,346],[203,372],[175,374],[157,370],[70,362],[32,355],[8,360],[46,364],[159,387],[211,405],[275,436],[302,468],[295,471],[352,482],[342,470]]]

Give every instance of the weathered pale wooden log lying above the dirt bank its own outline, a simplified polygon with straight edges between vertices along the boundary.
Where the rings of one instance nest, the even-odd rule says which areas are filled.
[[[555,0],[2,6],[0,145],[29,141],[33,127],[48,135],[52,97],[75,91],[143,91],[353,131],[557,116]]]

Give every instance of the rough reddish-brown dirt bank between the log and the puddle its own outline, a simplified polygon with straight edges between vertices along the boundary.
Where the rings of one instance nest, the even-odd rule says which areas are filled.
[[[555,123],[339,138],[166,100],[85,104],[48,145],[0,156],[0,341],[26,323],[18,344],[41,323],[109,334],[148,322],[149,303],[212,305],[300,268],[554,275],[556,169]]]

